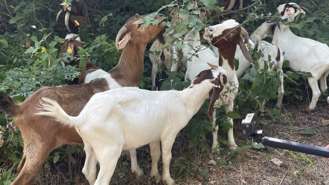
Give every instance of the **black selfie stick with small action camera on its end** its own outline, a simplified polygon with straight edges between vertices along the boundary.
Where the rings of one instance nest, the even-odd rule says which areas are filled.
[[[275,148],[288,149],[292,151],[329,158],[329,148],[307,145],[303,143],[297,143],[266,136],[263,137],[263,130],[256,130],[258,121],[254,116],[255,114],[253,113],[247,114],[246,118],[243,119],[241,122],[243,133],[250,134],[248,138],[252,139],[254,142],[263,143],[263,145]]]

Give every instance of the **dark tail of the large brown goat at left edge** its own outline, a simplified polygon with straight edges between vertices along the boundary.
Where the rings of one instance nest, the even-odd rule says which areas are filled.
[[[13,99],[5,92],[0,91],[0,110],[5,112],[6,117],[15,117],[20,106],[13,102]]]

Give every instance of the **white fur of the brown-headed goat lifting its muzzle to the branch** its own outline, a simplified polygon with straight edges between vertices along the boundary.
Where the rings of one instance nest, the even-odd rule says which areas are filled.
[[[221,24],[215,25],[215,26],[210,26],[215,29],[215,32],[221,33],[223,30],[236,27],[238,26],[239,23],[236,22],[235,20],[227,20],[224,21]],[[207,69],[207,62],[211,63],[213,65],[218,65],[219,57],[216,57],[213,50],[201,45],[200,42],[200,35],[197,32],[195,35],[192,35],[192,32],[188,33],[188,36],[185,36],[185,38],[192,38],[192,46],[194,50],[199,49],[199,51],[196,53],[198,57],[195,55],[191,57],[189,61],[187,61],[187,71],[185,74],[185,79],[193,79],[197,74],[200,73],[200,71]],[[215,35],[214,35],[215,37]],[[237,46],[238,49],[239,46]],[[239,47],[240,48],[240,47]],[[183,48],[184,49],[184,48]],[[194,50],[187,51],[186,53],[193,53]],[[239,49],[240,50],[240,49]],[[243,56],[243,55],[242,55]],[[226,62],[225,62],[226,61]],[[229,64],[227,63],[227,60],[224,60],[224,63],[222,67],[226,70],[227,72],[227,83],[224,86],[223,92],[229,91],[230,93],[226,94],[227,96],[222,97],[222,100],[219,99],[218,106],[224,105],[225,106],[225,111],[230,112],[233,111],[233,106],[234,106],[234,99],[236,94],[238,93],[239,89],[239,81],[237,78],[237,75],[235,74],[235,69],[232,69]],[[215,150],[216,147],[218,147],[218,125],[216,125],[216,109],[214,110],[214,119],[212,121],[213,125],[213,145],[212,149]],[[229,141],[229,149],[236,149],[237,144],[235,143],[234,140],[234,135],[233,135],[233,119],[228,118],[229,122],[232,125],[232,128],[229,129],[228,131],[228,141]]]

